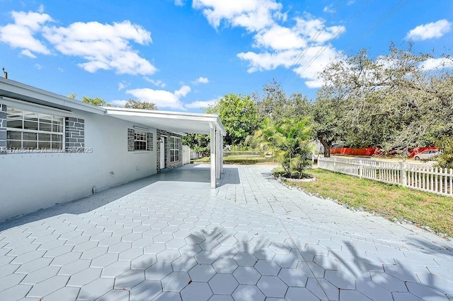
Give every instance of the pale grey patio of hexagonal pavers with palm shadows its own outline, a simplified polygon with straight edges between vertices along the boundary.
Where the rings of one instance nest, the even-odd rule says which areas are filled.
[[[453,300],[453,243],[186,165],[0,223],[0,300]],[[11,200],[13,201],[13,200]]]

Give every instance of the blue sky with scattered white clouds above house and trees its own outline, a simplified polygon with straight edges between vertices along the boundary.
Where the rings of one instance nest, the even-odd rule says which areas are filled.
[[[378,57],[393,41],[440,57],[453,46],[451,0],[0,0],[0,12],[8,78],[159,110],[200,112],[273,78],[314,98],[341,53]]]

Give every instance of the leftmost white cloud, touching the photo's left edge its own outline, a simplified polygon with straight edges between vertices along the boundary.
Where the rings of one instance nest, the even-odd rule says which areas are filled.
[[[22,54],[35,57],[36,53],[50,54],[50,50],[34,37],[40,32],[43,24],[52,21],[46,13],[13,11],[11,13],[14,23],[0,27],[0,41],[13,48],[23,49]]]

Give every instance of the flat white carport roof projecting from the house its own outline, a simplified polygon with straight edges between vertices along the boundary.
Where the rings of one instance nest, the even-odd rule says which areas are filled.
[[[217,129],[223,136],[226,135],[217,114],[138,110],[122,107],[103,107],[103,109],[111,117],[173,133],[210,134],[210,129]]]

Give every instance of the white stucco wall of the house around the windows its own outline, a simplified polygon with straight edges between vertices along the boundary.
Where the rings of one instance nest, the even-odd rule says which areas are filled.
[[[0,111],[2,122],[4,111]],[[128,151],[128,129],[139,124],[72,112],[66,129],[76,139],[69,143],[79,143],[74,144],[75,152],[0,153],[0,220],[80,199],[92,194],[93,187],[102,191],[156,173],[156,129],[150,130],[154,151]],[[2,129],[0,146],[6,140],[2,140]]]

